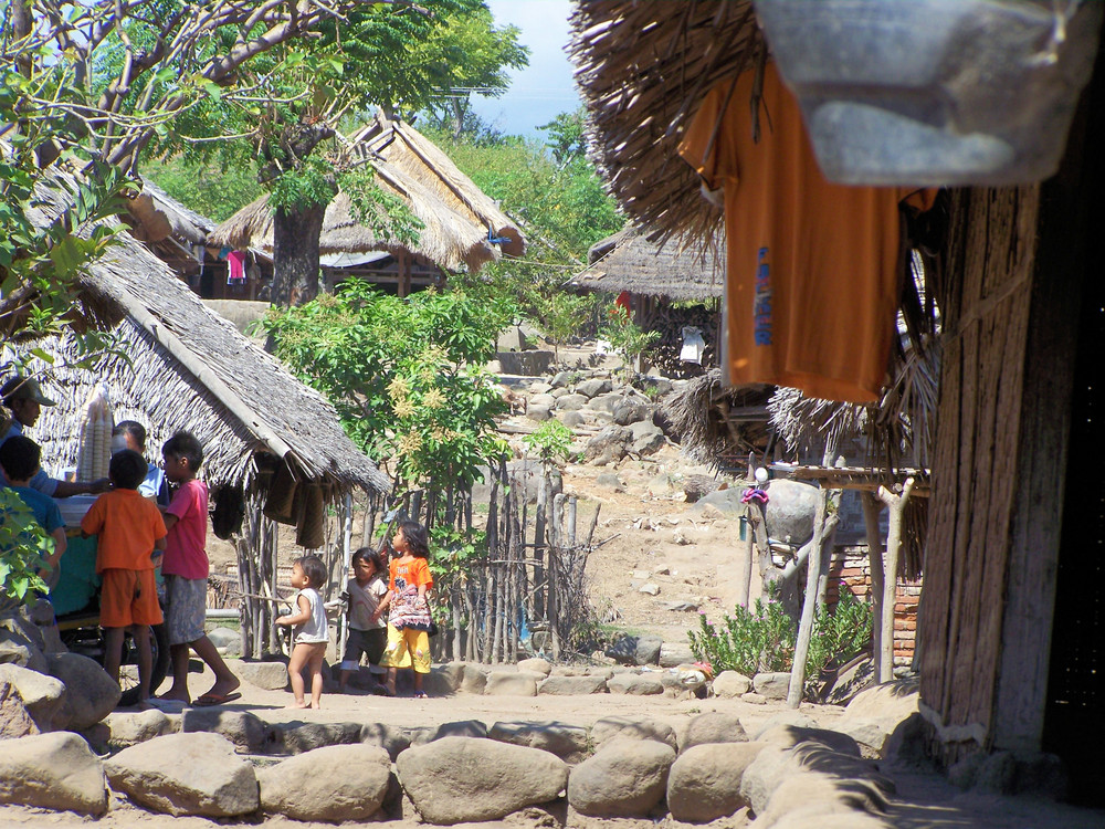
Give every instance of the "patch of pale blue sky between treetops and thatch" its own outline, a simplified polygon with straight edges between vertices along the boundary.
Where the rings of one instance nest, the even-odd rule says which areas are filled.
[[[511,88],[502,97],[473,96],[472,108],[503,133],[541,138],[545,134],[537,127],[580,104],[571,80],[572,65],[564,51],[568,44],[571,3],[569,0],[488,0],[487,6],[496,25],[518,27],[519,40],[529,46],[529,66],[511,72]]]

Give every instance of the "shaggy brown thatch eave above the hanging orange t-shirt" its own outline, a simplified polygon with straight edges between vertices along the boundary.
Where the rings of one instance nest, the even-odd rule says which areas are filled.
[[[720,210],[676,147],[706,93],[762,44],[751,0],[577,0],[571,57],[591,156],[650,235],[708,238]]]

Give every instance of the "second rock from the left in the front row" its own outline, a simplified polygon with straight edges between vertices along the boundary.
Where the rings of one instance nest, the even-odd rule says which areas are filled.
[[[169,734],[104,764],[112,788],[154,811],[227,818],[260,806],[253,765],[218,734]]]

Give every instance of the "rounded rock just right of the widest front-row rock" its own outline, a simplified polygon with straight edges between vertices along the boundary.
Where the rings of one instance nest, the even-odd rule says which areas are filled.
[[[663,743],[608,741],[571,770],[568,802],[591,817],[643,817],[663,799],[674,762],[675,752]]]

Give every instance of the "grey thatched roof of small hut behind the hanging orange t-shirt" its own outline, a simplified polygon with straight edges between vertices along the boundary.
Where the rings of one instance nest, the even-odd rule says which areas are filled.
[[[590,265],[567,284],[588,291],[663,296],[681,302],[717,298],[725,281],[725,248],[660,245],[633,228],[596,242]]]

